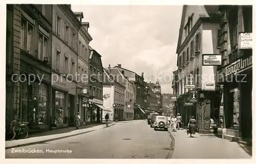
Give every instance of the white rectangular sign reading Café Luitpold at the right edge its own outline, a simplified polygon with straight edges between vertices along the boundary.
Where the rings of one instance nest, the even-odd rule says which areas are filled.
[[[239,33],[238,49],[252,49],[252,33]]]

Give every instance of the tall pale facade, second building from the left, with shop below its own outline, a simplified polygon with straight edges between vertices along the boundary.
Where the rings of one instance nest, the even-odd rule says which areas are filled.
[[[77,105],[78,30],[80,21],[69,5],[53,5],[52,124],[73,126]]]

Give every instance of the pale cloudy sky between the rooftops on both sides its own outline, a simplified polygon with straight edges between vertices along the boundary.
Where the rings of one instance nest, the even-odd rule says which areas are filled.
[[[101,54],[103,67],[121,64],[144,72],[145,81],[159,80],[162,93],[173,92],[182,6],[72,5],[72,10],[90,22],[90,46]]]

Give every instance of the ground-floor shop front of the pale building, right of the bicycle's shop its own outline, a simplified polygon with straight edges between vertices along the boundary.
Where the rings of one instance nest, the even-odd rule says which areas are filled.
[[[76,83],[60,75],[52,77],[52,126],[74,126]]]

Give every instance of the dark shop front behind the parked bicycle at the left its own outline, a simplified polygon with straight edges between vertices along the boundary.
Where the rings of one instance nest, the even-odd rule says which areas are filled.
[[[23,61],[24,58],[26,57],[22,56],[20,60],[20,80],[17,82],[19,93],[16,92],[16,96],[20,98],[19,108],[14,113],[17,114],[16,119],[27,124],[30,130],[48,130],[51,71],[45,66],[41,67],[44,71],[35,66],[30,67]]]

